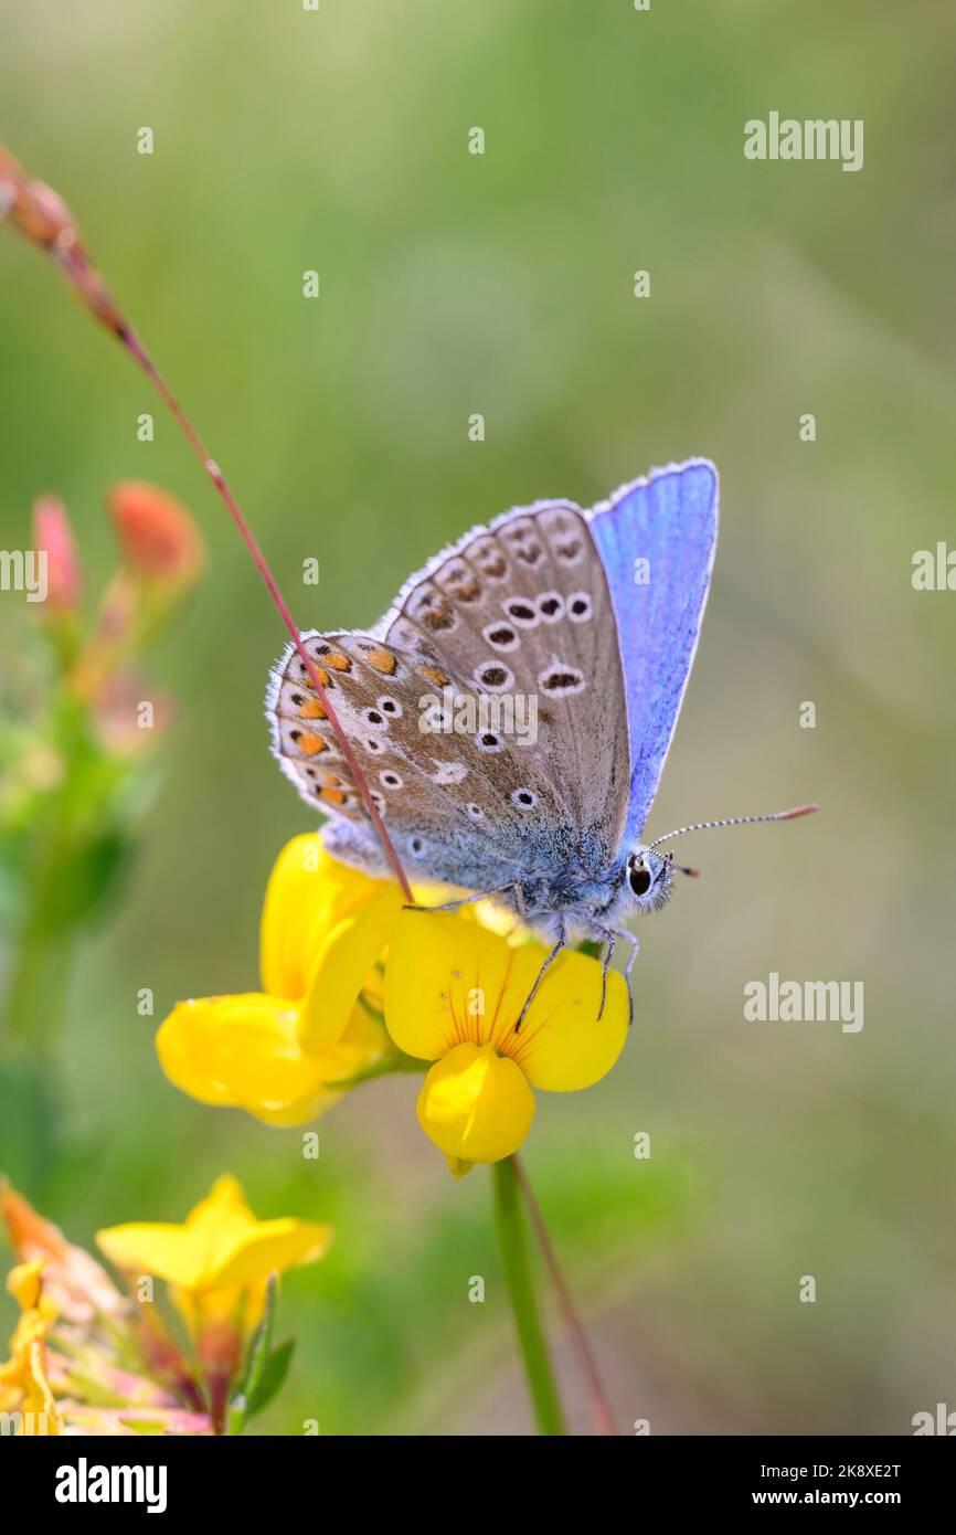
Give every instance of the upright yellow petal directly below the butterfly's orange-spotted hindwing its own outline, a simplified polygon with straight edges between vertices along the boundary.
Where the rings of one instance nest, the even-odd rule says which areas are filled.
[[[262,910],[262,985],[301,1001],[304,1050],[341,1038],[401,909],[397,884],[338,863],[318,837],[284,847]]]

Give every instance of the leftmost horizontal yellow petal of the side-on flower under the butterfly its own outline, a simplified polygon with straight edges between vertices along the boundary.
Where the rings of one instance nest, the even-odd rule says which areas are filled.
[[[295,1002],[261,992],[180,1002],[160,1025],[157,1053],[170,1082],[201,1104],[244,1108],[298,1125],[336,1102],[338,1059],[307,1055]]]

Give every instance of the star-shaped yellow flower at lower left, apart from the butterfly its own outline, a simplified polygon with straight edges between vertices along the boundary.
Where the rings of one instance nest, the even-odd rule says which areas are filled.
[[[322,1257],[331,1228],[312,1220],[256,1220],[235,1177],[219,1177],[181,1226],[140,1223],[97,1233],[100,1251],[126,1274],[153,1274],[193,1332],[262,1315],[270,1274]]]

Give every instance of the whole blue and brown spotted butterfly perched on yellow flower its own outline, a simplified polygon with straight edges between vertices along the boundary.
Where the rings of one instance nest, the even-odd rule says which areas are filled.
[[[697,651],[717,520],[706,459],[654,470],[588,511],[516,507],[428,560],[368,632],[304,635],[411,878],[493,895],[546,933],[542,975],[583,935],[608,946],[605,979],[626,939],[629,978],[638,944],[621,923],[671,895],[680,866],[657,849],[678,834],[644,843],[643,827]],[[279,766],[328,815],[328,852],[388,875],[292,645],[265,708]]]

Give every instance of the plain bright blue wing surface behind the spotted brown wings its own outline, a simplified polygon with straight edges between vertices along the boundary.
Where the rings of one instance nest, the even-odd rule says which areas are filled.
[[[625,485],[588,514],[625,668],[629,844],[657,794],[697,649],[717,548],[717,488],[714,465],[689,459]]]

